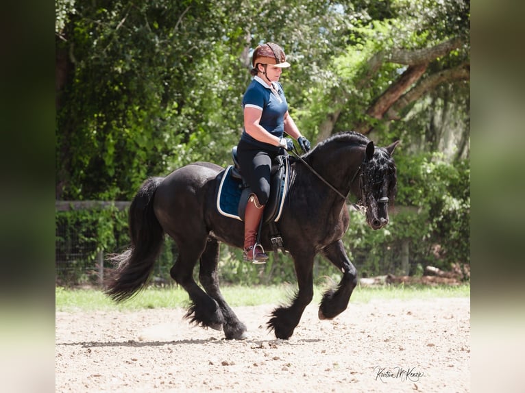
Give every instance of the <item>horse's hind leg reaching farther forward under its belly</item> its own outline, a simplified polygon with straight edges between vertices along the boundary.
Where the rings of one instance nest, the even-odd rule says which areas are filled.
[[[215,299],[221,308],[224,318],[223,329],[225,337],[228,340],[246,338],[246,326],[237,318],[228,303],[226,303],[219,289],[218,264],[219,242],[214,239],[209,239],[200,260],[199,281],[202,283],[206,293],[210,295],[212,299]]]

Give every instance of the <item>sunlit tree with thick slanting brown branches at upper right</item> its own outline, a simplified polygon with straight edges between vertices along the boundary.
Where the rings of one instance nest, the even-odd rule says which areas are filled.
[[[384,129],[435,92],[449,105],[454,93],[468,100],[469,3],[391,1],[376,14],[380,20],[352,31],[352,45],[334,63],[339,81],[322,99],[331,110],[319,118],[319,140],[345,127]],[[460,101],[449,110],[464,111]]]

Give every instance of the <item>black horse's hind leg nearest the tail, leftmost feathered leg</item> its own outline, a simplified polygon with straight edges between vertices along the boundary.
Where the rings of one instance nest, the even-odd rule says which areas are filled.
[[[188,308],[186,318],[202,327],[221,330],[224,318],[219,305],[193,279],[193,268],[205,247],[205,242],[206,240],[197,242],[195,239],[177,242],[179,245],[179,256],[170,270],[170,275],[190,296],[192,305]],[[189,246],[182,248],[180,244]]]

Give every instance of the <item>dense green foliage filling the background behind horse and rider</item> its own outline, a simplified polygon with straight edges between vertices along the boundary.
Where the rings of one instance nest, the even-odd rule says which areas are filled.
[[[293,64],[282,83],[312,142],[348,129],[402,140],[399,212],[379,232],[352,213],[344,238],[361,275],[469,264],[469,12],[467,1],[56,0],[56,200],[130,201],[148,176],[229,164],[249,55],[272,41]],[[98,253],[129,241],[114,208],[57,210],[56,233],[59,283],[94,281]],[[286,256],[260,268],[221,251],[223,281],[294,281]],[[176,253],[168,240],[155,277],[167,280]],[[315,268],[337,274],[321,258]]]

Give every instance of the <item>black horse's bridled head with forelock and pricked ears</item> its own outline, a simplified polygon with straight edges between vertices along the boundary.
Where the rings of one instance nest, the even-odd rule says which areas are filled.
[[[388,205],[395,197],[398,178],[392,153],[399,141],[388,147],[375,147],[369,142],[359,175],[359,205],[366,210],[367,223],[381,229],[389,223]]]

